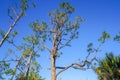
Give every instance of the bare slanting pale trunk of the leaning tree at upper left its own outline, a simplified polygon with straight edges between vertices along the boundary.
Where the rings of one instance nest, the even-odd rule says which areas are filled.
[[[16,17],[15,21],[13,22],[13,24],[10,25],[8,32],[5,34],[5,36],[2,38],[2,40],[0,41],[0,47],[2,46],[2,44],[4,43],[5,39],[8,37],[8,35],[10,34],[10,32],[12,31],[12,29],[14,28],[14,26],[16,25],[16,23],[20,20],[20,18],[23,16],[23,11],[20,12],[20,14]]]

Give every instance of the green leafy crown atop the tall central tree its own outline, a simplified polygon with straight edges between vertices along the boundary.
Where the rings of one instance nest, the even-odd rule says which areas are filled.
[[[76,16],[75,20],[70,20],[70,15],[74,12],[74,8],[69,2],[63,2],[59,7],[59,9],[49,12],[52,27],[50,26],[46,28],[46,30],[52,29],[53,33],[48,32],[46,36],[48,41],[52,43],[54,42],[54,32],[56,32],[57,41],[55,41],[55,44],[61,49],[67,41],[65,46],[71,46],[70,42],[78,38],[80,23],[83,22],[84,19],[80,16]]]

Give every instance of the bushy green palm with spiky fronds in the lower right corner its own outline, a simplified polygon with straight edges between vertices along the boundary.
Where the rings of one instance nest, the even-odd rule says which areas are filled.
[[[107,53],[106,57],[99,61],[99,67],[95,68],[99,80],[120,80],[120,56]]]

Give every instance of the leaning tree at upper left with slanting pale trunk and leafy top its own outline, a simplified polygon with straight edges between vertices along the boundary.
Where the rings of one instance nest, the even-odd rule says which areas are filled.
[[[10,6],[8,8],[8,17],[11,20],[11,23],[8,31],[4,35],[2,35],[2,39],[0,40],[0,47],[9,36],[9,34],[12,32],[13,28],[16,26],[19,20],[25,15],[26,10],[31,6],[35,7],[35,3],[32,2],[32,0],[20,0],[18,1],[17,5]],[[0,32],[2,31],[0,30]]]

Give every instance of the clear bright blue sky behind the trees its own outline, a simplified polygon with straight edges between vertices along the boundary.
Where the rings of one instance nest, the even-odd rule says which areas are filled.
[[[7,31],[10,25],[9,18],[7,16],[7,8],[17,3],[18,0],[0,0],[0,30]],[[80,25],[79,38],[72,41],[72,47],[65,47],[62,51],[63,54],[57,60],[57,65],[66,66],[73,62],[84,60],[87,55],[86,49],[88,43],[94,43],[94,46],[99,45],[98,38],[103,31],[107,31],[111,34],[111,39],[107,41],[102,47],[101,52],[98,53],[97,58],[102,59],[106,52],[113,52],[115,55],[120,55],[120,44],[113,41],[113,37],[120,32],[120,1],[119,0],[34,0],[36,2],[36,8],[30,8],[26,12],[26,16],[23,17],[14,30],[17,30],[19,34],[16,36],[16,43],[22,43],[22,37],[29,35],[31,29],[28,27],[29,23],[39,19],[44,20],[50,24],[48,12],[58,9],[58,5],[67,1],[70,2],[75,8],[75,12],[71,15],[71,19],[79,15],[86,19],[85,22]],[[51,26],[51,25],[50,25]],[[0,37],[1,40],[1,37]],[[48,44],[49,45],[49,44]],[[7,53],[7,48],[12,48],[8,43],[4,43],[0,47],[0,58],[3,58]],[[50,57],[47,51],[40,52],[40,58],[38,59],[41,64],[40,75],[50,80]],[[1,59],[0,59],[1,60]],[[62,80],[97,80],[97,75],[93,70],[74,70],[69,69],[62,73],[58,78]]]

